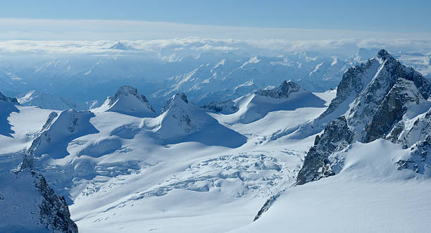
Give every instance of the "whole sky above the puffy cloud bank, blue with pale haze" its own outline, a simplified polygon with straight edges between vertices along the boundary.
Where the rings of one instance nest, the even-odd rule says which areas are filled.
[[[418,0],[14,0],[1,3],[0,40],[424,39],[430,10]]]

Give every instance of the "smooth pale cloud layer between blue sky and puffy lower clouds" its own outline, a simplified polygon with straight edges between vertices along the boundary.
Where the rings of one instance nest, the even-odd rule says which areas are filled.
[[[427,39],[431,33],[227,27],[137,20],[44,20],[0,18],[0,40],[155,40],[204,37],[216,39]]]

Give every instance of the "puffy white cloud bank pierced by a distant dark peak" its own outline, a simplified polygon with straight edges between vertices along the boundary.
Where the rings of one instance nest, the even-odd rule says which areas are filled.
[[[301,51],[318,51],[327,55],[356,53],[359,48],[389,51],[420,51],[430,53],[431,39],[326,39],[326,40],[287,40],[287,39],[214,39],[186,37],[175,39],[123,40],[134,51],[109,49],[117,41],[0,41],[0,56],[13,56],[23,53],[42,54],[137,54],[158,58],[181,58],[198,56],[202,52],[249,53],[251,56],[278,56]],[[175,53],[175,56],[172,56]]]

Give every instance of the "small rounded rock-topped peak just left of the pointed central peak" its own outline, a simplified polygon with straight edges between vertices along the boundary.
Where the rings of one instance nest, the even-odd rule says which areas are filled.
[[[137,117],[154,117],[156,111],[149,103],[148,99],[137,92],[137,89],[130,86],[123,86],[118,89],[114,96],[108,97],[101,108],[106,111],[123,113]]]

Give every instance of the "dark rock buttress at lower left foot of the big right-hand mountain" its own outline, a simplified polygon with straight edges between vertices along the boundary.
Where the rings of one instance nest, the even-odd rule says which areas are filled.
[[[325,127],[321,137],[316,137],[315,144],[308,151],[304,165],[299,171],[296,184],[305,184],[322,177],[335,175],[327,169],[329,161],[327,158],[334,152],[344,149],[351,144],[354,133],[351,132],[344,116],[332,120]]]

